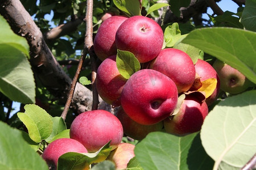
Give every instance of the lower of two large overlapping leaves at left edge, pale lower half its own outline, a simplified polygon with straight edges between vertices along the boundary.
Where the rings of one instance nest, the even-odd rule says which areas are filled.
[[[17,48],[0,45],[0,91],[10,100],[35,103],[35,82],[30,63]]]

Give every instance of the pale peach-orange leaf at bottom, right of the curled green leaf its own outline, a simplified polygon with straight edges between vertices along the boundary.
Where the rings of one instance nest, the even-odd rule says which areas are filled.
[[[115,150],[111,151],[108,160],[115,163],[116,169],[126,169],[129,161],[135,156],[135,145],[130,143],[120,143]]]

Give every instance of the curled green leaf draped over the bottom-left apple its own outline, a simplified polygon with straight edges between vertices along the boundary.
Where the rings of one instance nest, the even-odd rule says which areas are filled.
[[[84,169],[92,163],[104,161],[111,151],[110,142],[106,143],[100,150],[94,153],[80,154],[76,152],[68,152],[60,156],[57,169]]]

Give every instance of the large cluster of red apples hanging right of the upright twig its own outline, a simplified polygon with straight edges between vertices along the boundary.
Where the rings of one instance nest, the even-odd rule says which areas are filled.
[[[176,135],[199,131],[220,90],[212,65],[202,59],[193,63],[187,53],[163,44],[162,28],[146,16],[112,16],[94,39],[94,51],[102,61],[96,78],[98,94],[119,107],[115,116],[124,134],[133,139],[160,130]],[[134,54],[142,66],[129,78],[118,69],[119,51]],[[204,90],[209,82],[213,86]]]

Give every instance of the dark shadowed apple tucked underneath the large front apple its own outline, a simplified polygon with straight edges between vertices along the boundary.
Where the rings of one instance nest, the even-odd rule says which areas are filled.
[[[115,114],[121,124],[123,125],[123,133],[133,138],[135,140],[141,141],[146,137],[146,135],[152,131],[160,131],[163,129],[163,121],[158,122],[154,125],[142,125],[138,124],[132,120],[126,113],[123,111],[122,107],[118,108],[117,113]]]

